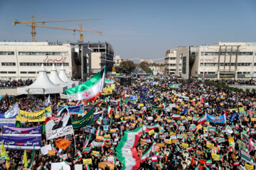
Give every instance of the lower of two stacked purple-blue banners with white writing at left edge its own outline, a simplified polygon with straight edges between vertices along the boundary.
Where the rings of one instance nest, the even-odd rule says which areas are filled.
[[[18,137],[18,136],[2,136],[0,135],[0,141],[4,143],[6,149],[27,149],[39,150],[41,148],[41,137]]]

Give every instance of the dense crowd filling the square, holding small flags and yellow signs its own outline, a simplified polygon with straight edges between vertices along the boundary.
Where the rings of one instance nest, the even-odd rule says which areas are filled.
[[[255,169],[256,102],[246,92],[235,93],[206,86],[198,80],[172,77],[134,79],[132,86],[120,86],[118,78],[113,80],[115,89],[112,94],[98,98],[102,102],[95,106],[94,112],[102,113],[102,116],[90,125],[93,130],[75,129],[74,134],[70,134],[72,142],[65,150],[55,145],[58,139],[46,140],[46,134],[42,133],[41,147],[50,144],[56,153],[42,155],[36,151],[31,170],[51,169],[51,163],[63,161],[71,169],[75,169],[75,164],[82,164],[82,169],[131,166],[134,162],[119,160],[121,156],[117,154],[117,147],[124,140],[122,138],[127,137],[127,132],[134,132],[142,125],[154,128],[139,133],[134,146],[134,157],[139,162],[135,163],[134,169]],[[3,96],[0,109],[4,113],[18,102],[21,110],[34,112],[45,107],[46,98]],[[84,107],[95,102],[85,102]],[[58,113],[58,104],[71,106],[76,103],[50,96],[53,114]],[[108,115],[109,107],[113,110],[111,115]],[[80,116],[75,115],[75,118]],[[220,116],[225,117],[224,122],[216,120]],[[208,120],[212,117],[215,120]],[[16,124],[24,128],[43,125],[44,122]],[[103,145],[95,146],[100,143]],[[75,159],[78,152],[82,153],[82,159]],[[148,156],[145,156],[146,152],[149,152]],[[7,153],[9,169],[21,169],[23,150],[7,149]],[[32,151],[27,151],[28,162],[31,156]],[[114,162],[108,159],[113,157]],[[85,161],[88,159],[92,162]],[[4,162],[0,169],[7,169]]]

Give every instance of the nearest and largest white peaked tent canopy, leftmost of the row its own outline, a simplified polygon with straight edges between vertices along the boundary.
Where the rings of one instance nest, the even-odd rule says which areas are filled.
[[[43,64],[39,69],[38,77],[33,84],[23,88],[17,88],[18,94],[59,94],[63,93],[63,91],[63,86],[57,86],[50,81],[46,74],[46,68],[43,67]]]

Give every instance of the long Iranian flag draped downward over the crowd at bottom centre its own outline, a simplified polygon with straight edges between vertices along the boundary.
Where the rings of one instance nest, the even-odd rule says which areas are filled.
[[[125,131],[122,140],[117,145],[117,159],[124,165],[122,169],[139,169],[141,158],[136,145],[142,135],[142,127],[134,131]]]

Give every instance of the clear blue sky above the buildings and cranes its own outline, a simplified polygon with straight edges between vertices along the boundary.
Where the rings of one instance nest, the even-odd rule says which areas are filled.
[[[31,28],[12,21],[102,18],[99,21],[46,23],[46,26],[89,27],[84,41],[110,42],[124,59],[164,61],[170,48],[216,42],[256,42],[255,0],[0,0],[0,41],[31,41]],[[79,32],[36,28],[38,41],[77,42]],[[161,60],[158,60],[161,59]],[[134,60],[139,62],[139,60]]]

